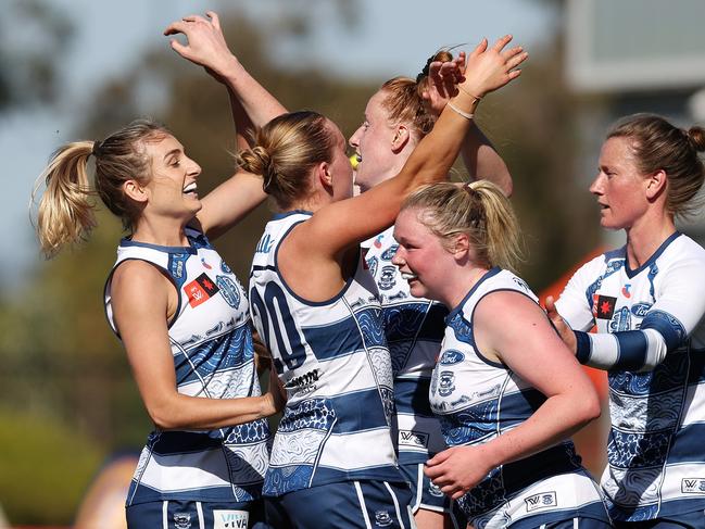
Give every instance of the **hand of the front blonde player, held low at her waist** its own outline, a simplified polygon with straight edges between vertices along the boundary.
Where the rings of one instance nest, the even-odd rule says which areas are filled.
[[[494,468],[488,463],[484,446],[453,446],[426,462],[424,473],[441,491],[457,500]]]

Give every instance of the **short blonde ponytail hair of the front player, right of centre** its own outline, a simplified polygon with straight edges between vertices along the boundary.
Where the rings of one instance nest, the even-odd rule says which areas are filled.
[[[423,186],[406,198],[402,210],[407,209],[418,211],[418,221],[439,237],[448,250],[454,247],[455,236],[467,235],[477,260],[488,268],[500,266],[516,272],[524,260],[514,209],[492,182]]]

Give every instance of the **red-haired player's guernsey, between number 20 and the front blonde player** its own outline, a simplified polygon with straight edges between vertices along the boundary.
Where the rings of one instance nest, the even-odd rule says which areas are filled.
[[[441,425],[431,412],[428,390],[441,350],[448,310],[412,297],[408,282],[391,263],[398,243],[391,226],[363,244],[365,261],[379,288],[385,333],[392,357],[399,463],[426,463],[445,449]]]

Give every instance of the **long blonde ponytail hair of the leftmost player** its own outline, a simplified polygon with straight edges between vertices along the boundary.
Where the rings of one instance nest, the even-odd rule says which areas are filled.
[[[133,227],[139,210],[123,191],[123,182],[150,179],[150,158],[144,142],[168,135],[162,125],[137,119],[103,141],[75,141],[60,147],[38,178],[46,184],[37,212],[37,235],[41,250],[52,257],[68,243],[85,240],[96,227],[93,197]],[[88,159],[95,156],[95,185],[88,176]],[[37,193],[37,188],[33,192]]]

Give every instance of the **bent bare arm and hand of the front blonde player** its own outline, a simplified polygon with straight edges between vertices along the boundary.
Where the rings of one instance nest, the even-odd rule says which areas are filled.
[[[506,433],[484,444],[451,448],[427,462],[426,474],[454,499],[493,468],[545,450],[600,415],[590,379],[533,301],[516,292],[491,293],[477,305],[473,324],[479,350],[506,364],[546,400]]]

